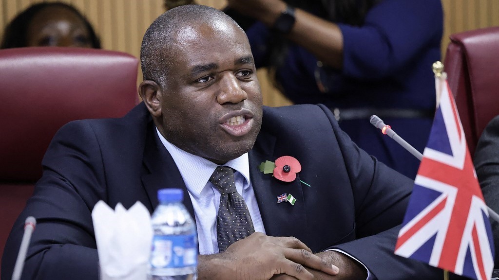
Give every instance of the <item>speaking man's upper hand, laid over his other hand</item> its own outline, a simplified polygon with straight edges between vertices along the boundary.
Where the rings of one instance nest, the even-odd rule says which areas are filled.
[[[305,267],[324,275],[338,273],[336,267],[312,254],[311,250],[298,239],[294,237],[270,237],[260,232],[255,232],[232,244],[224,253],[208,257],[200,256],[200,260],[209,259],[210,256],[218,258],[218,260],[211,260],[212,266],[210,268],[212,271],[208,274],[202,275],[202,270],[200,270],[200,280],[205,278],[267,280],[274,275],[289,276],[288,279],[314,279],[312,273]],[[215,265],[213,265],[214,263]],[[224,264],[223,271],[213,271],[217,270],[216,264]],[[203,268],[205,267],[203,266]]]

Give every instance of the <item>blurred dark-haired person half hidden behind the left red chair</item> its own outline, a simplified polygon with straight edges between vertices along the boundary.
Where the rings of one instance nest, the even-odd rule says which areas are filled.
[[[5,27],[1,49],[35,46],[101,47],[85,16],[63,2],[32,4]]]

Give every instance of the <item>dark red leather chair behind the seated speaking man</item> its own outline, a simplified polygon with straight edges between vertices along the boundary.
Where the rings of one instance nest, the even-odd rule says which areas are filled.
[[[139,102],[137,65],[101,49],[0,50],[0,254],[55,132],[73,120],[125,115]]]

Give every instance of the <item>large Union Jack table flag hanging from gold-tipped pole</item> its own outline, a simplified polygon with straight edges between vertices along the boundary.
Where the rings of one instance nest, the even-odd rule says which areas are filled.
[[[414,181],[395,254],[477,280],[491,278],[489,213],[447,81]]]

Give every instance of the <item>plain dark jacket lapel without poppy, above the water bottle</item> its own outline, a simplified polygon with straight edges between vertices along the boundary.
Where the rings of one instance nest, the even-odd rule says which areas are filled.
[[[154,124],[153,124],[154,126]],[[153,206],[158,206],[158,190],[162,188],[180,188],[184,191],[184,205],[194,215],[194,208],[175,161],[165,148],[156,133],[154,127],[147,130],[146,145],[144,148],[144,165],[146,171],[142,175],[142,183],[146,189],[147,196]]]

